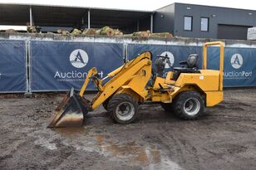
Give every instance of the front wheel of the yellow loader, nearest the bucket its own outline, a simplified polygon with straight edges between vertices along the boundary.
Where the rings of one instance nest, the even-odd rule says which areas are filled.
[[[119,124],[129,124],[138,115],[139,104],[130,95],[114,95],[108,102],[107,109],[114,122]]]

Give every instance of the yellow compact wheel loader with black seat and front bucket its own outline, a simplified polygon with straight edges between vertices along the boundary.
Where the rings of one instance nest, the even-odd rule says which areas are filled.
[[[207,70],[208,46],[220,47],[219,70]],[[174,112],[181,119],[197,119],[204,113],[205,106],[214,106],[223,100],[223,42],[204,44],[202,70],[198,69],[196,54],[181,61],[182,67],[173,68],[165,76],[165,65],[170,65],[168,56],[158,56],[154,71],[151,59],[150,51],[145,51],[103,79],[99,78],[96,68],[92,68],[81,90],[72,89],[62,100],[48,127],[81,126],[85,115],[101,104],[119,124],[133,122],[138,116],[139,105],[147,102],[160,103],[166,111]],[[91,101],[84,97],[89,80],[98,89]]]

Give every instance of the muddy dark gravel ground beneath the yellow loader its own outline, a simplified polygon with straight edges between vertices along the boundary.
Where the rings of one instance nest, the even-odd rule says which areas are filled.
[[[255,169],[256,89],[224,96],[194,121],[141,105],[114,124],[101,106],[81,128],[47,129],[63,94],[0,95],[0,169]]]

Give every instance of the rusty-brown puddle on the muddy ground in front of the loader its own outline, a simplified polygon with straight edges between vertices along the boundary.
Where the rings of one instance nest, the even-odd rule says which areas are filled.
[[[101,153],[111,158],[121,159],[129,164],[140,165],[143,169],[175,169],[180,170],[180,165],[167,158],[154,145],[140,146],[135,141],[119,143],[108,135],[94,134],[96,145],[101,148]]]

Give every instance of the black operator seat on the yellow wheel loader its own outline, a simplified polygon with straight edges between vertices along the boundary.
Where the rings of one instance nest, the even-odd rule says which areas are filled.
[[[187,61],[180,61],[182,66],[174,68],[173,80],[177,80],[181,73],[200,73],[197,61],[197,54],[190,54]]]

